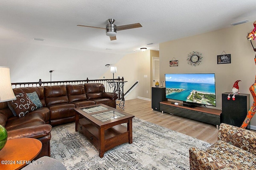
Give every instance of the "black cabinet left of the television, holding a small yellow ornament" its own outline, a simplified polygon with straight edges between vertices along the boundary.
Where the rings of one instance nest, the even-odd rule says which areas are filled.
[[[160,102],[166,100],[165,87],[152,87],[151,90],[151,108],[160,111]]]

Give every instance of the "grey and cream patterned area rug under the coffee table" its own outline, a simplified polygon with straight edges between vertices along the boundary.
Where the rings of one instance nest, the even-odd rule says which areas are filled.
[[[75,124],[52,129],[51,157],[68,170],[189,170],[190,147],[206,149],[209,143],[134,118],[133,143],[125,143],[105,152],[98,150]]]

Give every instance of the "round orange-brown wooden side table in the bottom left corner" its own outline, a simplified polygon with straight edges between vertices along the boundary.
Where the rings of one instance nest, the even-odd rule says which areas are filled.
[[[40,153],[42,143],[34,138],[10,139],[0,150],[0,170],[18,170]]]

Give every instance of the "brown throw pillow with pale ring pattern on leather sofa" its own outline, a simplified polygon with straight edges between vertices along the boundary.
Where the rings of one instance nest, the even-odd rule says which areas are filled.
[[[19,117],[36,109],[36,105],[24,93],[20,97],[16,97],[16,100],[12,100],[11,106]]]

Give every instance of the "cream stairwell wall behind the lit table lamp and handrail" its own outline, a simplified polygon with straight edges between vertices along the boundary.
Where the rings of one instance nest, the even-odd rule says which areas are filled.
[[[145,52],[136,52],[124,56],[120,61],[115,65],[117,67],[117,72],[114,74],[114,77],[120,76],[124,77],[124,80],[128,81],[125,83],[124,92],[136,82],[139,81],[139,84],[130,94],[125,98],[125,100],[135,99],[135,98],[145,98],[150,99],[150,50]],[[147,78],[144,78],[144,75],[147,75]],[[102,75],[106,78],[113,78],[113,74],[110,73],[110,67]],[[102,76],[100,78],[102,78]],[[148,93],[147,93],[148,91]]]

